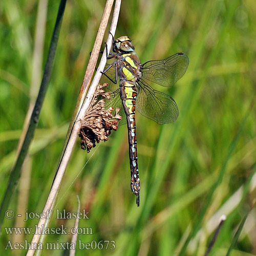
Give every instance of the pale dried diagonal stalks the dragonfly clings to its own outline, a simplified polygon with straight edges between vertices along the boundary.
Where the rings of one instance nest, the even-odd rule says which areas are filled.
[[[82,87],[81,87],[81,90],[80,90],[80,93],[79,93],[78,99],[81,99],[81,101],[78,100],[77,104],[76,104],[76,107],[75,107],[75,112],[74,113],[76,113],[76,111],[77,111],[78,115],[77,115],[77,117],[74,121],[74,125],[73,126],[70,125],[71,132],[70,132],[70,130],[68,131],[68,133],[70,132],[70,136],[67,136],[67,144],[62,150],[62,155],[61,155],[61,159],[60,159],[60,162],[59,162],[59,165],[58,165],[58,168],[57,168],[55,180],[53,182],[48,200],[47,200],[45,208],[43,210],[43,212],[45,212],[45,214],[46,214],[47,211],[50,210],[51,211],[51,215],[50,215],[51,217],[52,217],[52,213],[53,213],[53,210],[54,210],[54,205],[55,205],[56,200],[57,200],[58,191],[59,191],[59,188],[60,188],[60,184],[61,184],[63,175],[64,175],[66,167],[68,165],[68,162],[69,162],[71,153],[73,151],[73,147],[75,145],[75,141],[77,139],[78,133],[81,129],[83,117],[86,115],[87,111],[89,110],[89,107],[90,107],[91,102],[94,98],[94,94],[95,94],[95,91],[97,89],[100,77],[101,77],[100,72],[103,71],[103,69],[105,67],[105,64],[106,64],[106,52],[104,50],[104,52],[102,54],[101,61],[99,63],[98,69],[97,69],[97,72],[94,76],[93,82],[89,86],[90,81],[92,79],[93,72],[94,72],[95,67],[96,67],[96,62],[97,62],[97,58],[98,58],[98,55],[99,55],[99,50],[100,50],[100,47],[101,47],[101,44],[102,44],[102,41],[103,41],[103,35],[104,35],[105,29],[106,29],[106,25],[108,24],[108,19],[110,17],[113,2],[114,2],[114,0],[108,0],[106,2],[105,10],[104,10],[104,13],[102,15],[101,23],[100,23],[100,26],[99,26],[99,29],[98,29],[98,33],[97,33],[96,41],[95,41],[93,51],[92,51],[92,54],[91,54],[91,58],[89,60],[88,68],[87,68],[86,74],[84,75]],[[112,24],[111,24],[111,28],[110,28],[110,31],[113,35],[115,34],[115,30],[116,30],[116,26],[117,26],[117,20],[118,20],[118,16],[119,16],[120,5],[121,5],[121,0],[116,0],[114,12],[113,12]],[[109,46],[108,49],[110,49],[111,42],[112,42],[112,37],[109,35],[108,40],[106,42],[106,44]],[[86,98],[86,99],[83,101],[83,98]],[[83,102],[82,105],[81,105],[81,102]],[[80,106],[81,106],[81,109],[80,109]],[[73,121],[71,121],[71,122],[73,122]],[[39,222],[38,222],[38,225],[37,225],[38,230],[39,229],[42,230],[42,228],[49,225],[49,223],[50,222],[47,222],[46,219],[40,219]],[[31,241],[31,245],[37,245],[39,239],[41,241],[41,240],[44,240],[44,238],[45,238],[44,234],[42,234],[42,235],[34,234],[33,239]],[[30,248],[27,252],[27,256],[33,255],[34,252],[35,252],[35,248]]]

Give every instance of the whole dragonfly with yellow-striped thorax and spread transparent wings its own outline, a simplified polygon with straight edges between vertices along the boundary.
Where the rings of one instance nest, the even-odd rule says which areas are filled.
[[[106,48],[107,49],[107,48]],[[173,86],[186,72],[188,57],[184,53],[176,53],[163,60],[150,60],[141,64],[135,53],[134,45],[128,36],[114,39],[112,35],[112,51],[108,59],[114,59],[105,66],[100,83],[107,82],[105,90],[111,93],[105,109],[112,106],[120,108],[122,120],[127,122],[129,139],[129,156],[131,170],[131,189],[136,195],[136,204],[140,204],[140,179],[137,157],[137,139],[135,110],[143,116],[159,124],[174,122],[179,116],[175,100],[167,94],[154,90],[148,82],[163,87]]]

